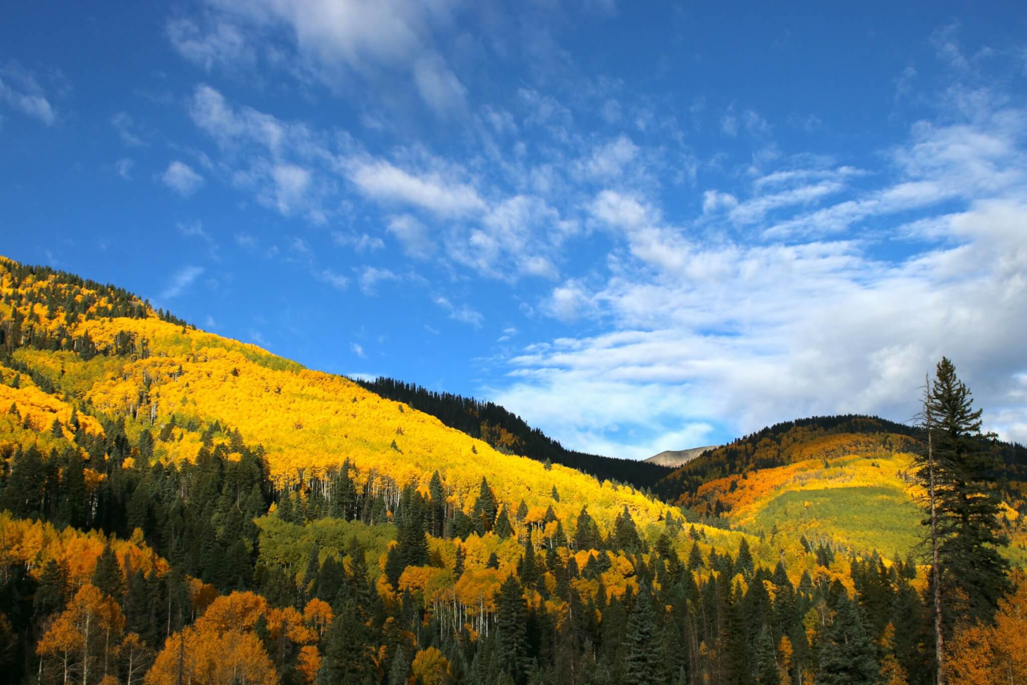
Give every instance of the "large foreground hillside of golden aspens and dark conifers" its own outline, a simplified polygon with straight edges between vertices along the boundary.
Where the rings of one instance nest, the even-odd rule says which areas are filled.
[[[505,454],[46,268],[0,260],[0,331],[12,682],[931,681],[892,549]],[[1027,673],[1023,594],[988,602],[953,662]]]

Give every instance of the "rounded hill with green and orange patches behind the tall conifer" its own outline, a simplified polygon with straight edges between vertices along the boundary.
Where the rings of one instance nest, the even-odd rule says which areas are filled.
[[[923,493],[910,474],[917,449],[908,426],[877,417],[812,417],[764,428],[714,449],[661,482],[670,501],[721,517],[752,532],[904,558],[920,538]],[[994,444],[1003,473],[1016,478],[1021,446]],[[1027,510],[1019,485],[1002,489],[1009,504],[1009,556],[1027,561],[1020,515]],[[1019,509],[1015,510],[1015,509]]]

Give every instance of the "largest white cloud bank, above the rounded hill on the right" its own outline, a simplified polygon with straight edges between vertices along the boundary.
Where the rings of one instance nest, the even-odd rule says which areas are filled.
[[[813,414],[905,420],[944,354],[986,426],[1024,440],[1024,116],[916,124],[873,177],[825,164],[771,170],[745,200],[709,191],[705,215],[751,226],[736,239],[697,233],[709,216],[676,226],[639,194],[600,191],[585,210],[627,251],[540,310],[604,332],[523,347],[490,398],[576,449],[648,456],[707,444],[723,417],[736,434]],[[784,218],[767,224],[771,212]],[[854,222],[876,232],[845,232]],[[918,242],[887,257],[882,235]]]

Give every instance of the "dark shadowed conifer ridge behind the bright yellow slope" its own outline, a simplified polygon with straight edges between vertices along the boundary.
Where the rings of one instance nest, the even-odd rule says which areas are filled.
[[[646,490],[671,470],[645,461],[568,450],[495,403],[479,402],[473,397],[449,392],[434,392],[392,378],[379,377],[356,382],[382,397],[403,402],[418,411],[431,414],[451,428],[485,441],[500,452],[576,468],[600,481],[621,482]]]

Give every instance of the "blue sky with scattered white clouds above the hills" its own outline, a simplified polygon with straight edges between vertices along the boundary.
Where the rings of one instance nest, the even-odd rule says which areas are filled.
[[[1027,12],[849,5],[18,3],[0,254],[613,456],[942,354],[1027,441]]]

